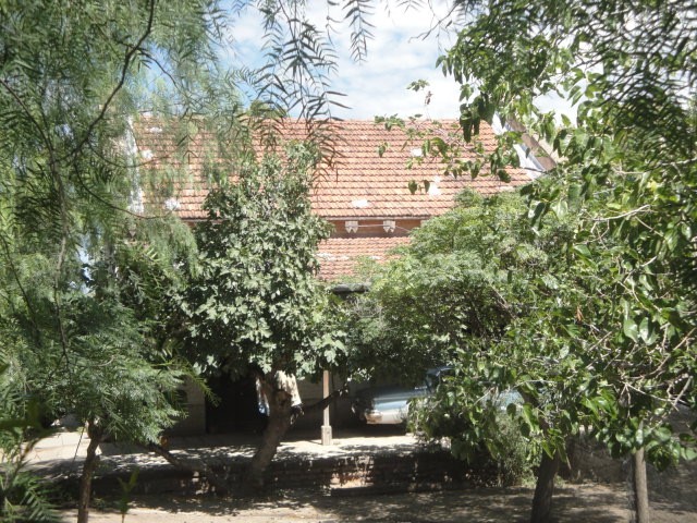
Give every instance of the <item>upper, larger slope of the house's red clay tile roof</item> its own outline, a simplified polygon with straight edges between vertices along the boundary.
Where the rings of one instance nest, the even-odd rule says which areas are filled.
[[[318,177],[311,202],[315,211],[327,219],[332,218],[390,218],[413,217],[429,218],[445,212],[453,206],[454,196],[465,187],[481,194],[493,194],[506,187],[523,185],[530,181],[525,171],[512,169],[512,183],[506,184],[492,177],[469,177],[454,179],[444,175],[444,166],[435,158],[420,155],[420,143],[407,143],[407,135],[399,127],[387,131],[384,125],[371,121],[348,120],[334,122],[339,138],[335,141],[334,165]],[[441,122],[443,129],[433,131],[435,135],[444,136],[456,130],[456,122]],[[417,125],[430,125],[419,122]],[[282,124],[283,136],[298,138],[305,132],[303,122],[285,121]],[[140,157],[147,166],[159,170],[168,165],[176,165],[174,160],[178,144],[179,158],[188,166],[189,179],[175,182],[171,208],[187,220],[203,219],[200,210],[207,188],[203,182],[203,166],[207,160],[216,162],[216,154],[207,151],[209,135],[194,134],[187,141],[181,131],[168,133],[161,124],[143,118],[136,125],[136,143]],[[494,146],[491,127],[481,123],[479,136],[485,149]],[[406,145],[405,145],[406,143]],[[185,145],[181,145],[185,144]],[[382,156],[378,148],[384,147]],[[474,153],[463,148],[463,158],[474,158]],[[412,161],[413,168],[407,168]],[[424,191],[412,194],[408,190],[411,181],[430,182],[428,193]],[[168,181],[163,180],[163,184]]]

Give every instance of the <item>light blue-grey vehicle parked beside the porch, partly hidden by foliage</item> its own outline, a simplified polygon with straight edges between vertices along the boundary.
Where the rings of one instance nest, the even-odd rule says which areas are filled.
[[[442,376],[451,367],[443,366],[426,372],[424,382],[416,387],[389,385],[369,387],[356,392],[352,411],[369,425],[400,425],[406,422],[409,402],[415,398],[427,398],[436,392]]]

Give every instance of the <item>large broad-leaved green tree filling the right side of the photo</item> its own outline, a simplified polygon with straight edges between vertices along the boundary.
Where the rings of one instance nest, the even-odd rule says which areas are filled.
[[[614,455],[640,463],[646,453],[659,466],[694,455],[694,435],[678,441],[668,421],[682,403],[697,406],[694,5],[458,7],[464,28],[439,63],[462,84],[465,138],[494,113],[521,122],[560,160],[549,182],[528,191],[534,222],[570,211],[580,218],[567,251],[570,284],[543,314],[511,328],[508,357],[521,373],[501,381],[550,384],[545,394],[573,399],[561,425],[549,423],[565,415],[552,404],[529,405],[551,461],[582,419]],[[575,122],[536,107],[550,94],[576,105]],[[502,136],[491,172],[503,167],[511,137],[519,133]],[[647,521],[646,491],[638,492]],[[536,492],[536,521],[549,519],[542,499],[551,499],[545,489]]]

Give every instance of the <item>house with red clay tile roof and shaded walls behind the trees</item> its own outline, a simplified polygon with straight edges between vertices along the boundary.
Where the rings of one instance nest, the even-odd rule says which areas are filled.
[[[277,146],[282,145],[283,141],[303,139],[308,132],[317,131],[308,130],[305,122],[297,121],[277,122],[273,125],[279,132],[277,137],[280,143]],[[473,161],[481,154],[474,146],[460,142],[462,134],[454,121],[441,122],[440,126],[432,122],[413,122],[407,131],[399,126],[388,131],[384,124],[371,121],[330,122],[328,126],[319,130],[317,143],[322,150],[330,150],[331,157],[318,170],[310,199],[314,212],[333,224],[331,238],[319,245],[317,256],[320,278],[333,282],[333,292],[338,295],[365,291],[365,284],[340,283],[348,283],[348,280],[356,282],[355,271],[362,260],[381,263],[394,256],[395,247],[408,244],[411,231],[424,220],[451,209],[455,205],[455,196],[464,188],[490,195],[510,191],[531,179],[523,169],[511,169],[509,183],[488,177],[486,172],[474,180],[468,175],[447,175],[447,166],[439,158],[425,154],[421,147],[424,137],[456,144],[460,150],[453,161]],[[426,135],[412,139],[408,131],[414,127],[420,127]],[[322,136],[329,139],[329,144],[323,142]],[[189,223],[207,218],[203,204],[210,183],[206,177],[234,180],[235,160],[240,157],[240,150],[234,148],[249,143],[244,137],[222,136],[223,148],[219,149],[221,136],[201,131],[196,122],[164,125],[148,117],[135,122],[134,137],[131,153],[142,174],[138,181],[139,197],[134,205],[142,210],[147,208],[148,212],[168,209]],[[258,142],[261,139],[257,137],[252,153],[258,153],[264,147]],[[485,153],[496,147],[496,136],[484,122],[479,146]],[[418,188],[413,192],[415,182]],[[327,386],[327,375],[325,380]],[[224,430],[237,423],[237,416],[246,419],[246,414],[241,414],[239,401],[239,391],[244,389],[228,389],[225,387],[237,386],[223,386],[222,382],[211,386],[223,399],[224,406],[219,408],[206,409],[200,391],[193,386],[187,388],[189,416],[187,425],[180,424],[176,431],[199,434]],[[318,385],[301,381],[299,387],[303,400],[309,403],[325,396]],[[231,390],[236,392],[230,396]],[[345,418],[350,416],[347,403],[344,406],[343,410],[335,408],[334,414],[339,412],[340,418],[341,415]],[[306,423],[319,421],[310,418]],[[225,424],[233,425],[228,427]]]

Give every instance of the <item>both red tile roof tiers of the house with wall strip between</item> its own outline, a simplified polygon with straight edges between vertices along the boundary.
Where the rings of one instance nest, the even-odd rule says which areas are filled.
[[[456,139],[454,121],[440,125],[413,123],[432,137]],[[206,162],[224,165],[218,153],[208,150],[211,137],[205,133],[166,132],[162,125],[146,117],[135,126],[136,154],[139,161],[166,172],[172,166],[185,167],[188,174],[176,182],[167,180],[167,198],[158,205],[173,210],[182,219],[195,222],[206,218],[201,204],[208,193],[204,181]],[[464,188],[481,194],[496,194],[530,181],[523,169],[512,169],[510,183],[493,177],[453,178],[438,158],[425,156],[421,142],[411,139],[405,130],[371,121],[332,122],[333,157],[317,177],[310,195],[314,211],[333,224],[332,238],[319,246],[320,277],[340,281],[353,273],[360,258],[384,260],[390,250],[408,243],[408,234],[421,221],[442,215],[454,206],[455,196]],[[283,138],[302,138],[303,122],[285,121],[280,126]],[[492,150],[496,136],[481,123],[479,141],[484,150]],[[461,146],[460,160],[474,160],[474,147]],[[234,173],[230,173],[233,175]],[[409,183],[420,186],[414,194]],[[427,182],[424,184],[424,182]],[[413,187],[412,187],[413,188]]]

